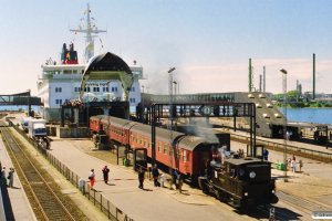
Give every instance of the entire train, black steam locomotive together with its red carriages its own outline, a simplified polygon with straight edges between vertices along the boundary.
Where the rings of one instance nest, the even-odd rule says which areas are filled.
[[[147,157],[152,157],[149,125],[97,115],[90,118],[90,129],[92,134],[103,133],[110,143],[132,150],[144,148]],[[156,162],[178,169],[185,178],[198,183],[205,193],[215,194],[236,208],[278,202],[269,161],[238,158],[226,154],[227,149],[218,141],[179,131],[172,131],[170,136],[169,130],[159,127],[156,128],[155,144]]]

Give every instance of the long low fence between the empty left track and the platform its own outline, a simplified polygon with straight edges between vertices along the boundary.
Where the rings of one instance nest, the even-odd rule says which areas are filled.
[[[83,186],[80,186],[80,180],[85,180],[84,178],[79,177],[79,175],[73,172],[68,166],[65,166],[59,159],[56,159],[50,151],[40,147],[35,140],[31,139],[17,125],[12,124],[12,122],[9,120],[9,125],[12,126],[19,134],[21,134],[34,148],[37,148],[45,157],[45,159],[48,159],[49,162],[66,178],[66,180],[69,180],[74,187],[76,187],[95,207],[97,207],[102,212],[104,212],[110,220],[134,220],[129,218],[126,213],[124,213],[121,209],[115,207],[102,193],[92,190],[87,182],[84,181]]]

